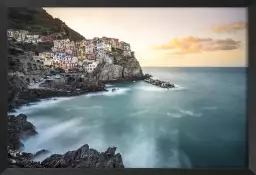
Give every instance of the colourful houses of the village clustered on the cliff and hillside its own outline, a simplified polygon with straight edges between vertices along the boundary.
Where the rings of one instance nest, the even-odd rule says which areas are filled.
[[[95,37],[81,41],[62,39],[60,33],[49,36],[40,36],[25,30],[7,31],[8,40],[17,43],[30,43],[37,45],[42,42],[53,43],[49,52],[26,52],[27,59],[40,63],[40,68],[60,67],[65,72],[83,71],[91,73],[99,63],[113,63],[113,56],[121,54],[123,57],[133,57],[130,44],[116,38]],[[29,66],[31,67],[31,66]]]

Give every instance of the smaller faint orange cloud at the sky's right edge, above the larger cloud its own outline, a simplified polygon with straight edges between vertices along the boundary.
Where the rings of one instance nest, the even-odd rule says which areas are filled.
[[[233,22],[229,24],[220,24],[212,27],[212,31],[214,33],[235,33],[237,31],[241,31],[246,29],[246,22]]]

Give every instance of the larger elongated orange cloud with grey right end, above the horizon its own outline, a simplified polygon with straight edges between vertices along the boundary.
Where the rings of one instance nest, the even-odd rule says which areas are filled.
[[[154,46],[155,50],[170,51],[171,54],[191,54],[200,52],[234,50],[241,46],[240,41],[233,39],[198,38],[185,36],[182,38],[172,38],[169,43]]]

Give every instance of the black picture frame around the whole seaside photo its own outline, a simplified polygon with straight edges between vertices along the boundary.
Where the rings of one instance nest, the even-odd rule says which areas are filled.
[[[0,1],[0,173],[4,175],[249,175],[256,173],[256,5],[245,0],[5,0]],[[7,167],[7,8],[8,7],[248,7],[247,140],[248,167],[245,169],[16,169]],[[255,48],[254,48],[255,47]]]

